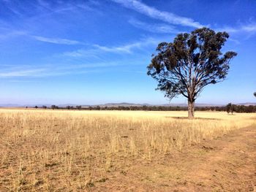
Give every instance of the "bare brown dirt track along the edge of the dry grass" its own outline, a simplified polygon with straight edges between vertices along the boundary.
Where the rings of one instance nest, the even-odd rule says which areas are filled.
[[[124,167],[89,191],[256,191],[256,128]]]

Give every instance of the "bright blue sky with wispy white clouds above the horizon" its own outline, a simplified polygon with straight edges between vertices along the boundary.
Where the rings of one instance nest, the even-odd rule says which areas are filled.
[[[256,1],[0,0],[0,104],[165,104],[146,66],[159,42],[208,26],[234,50],[197,103],[255,102]],[[178,97],[172,103],[187,103]]]

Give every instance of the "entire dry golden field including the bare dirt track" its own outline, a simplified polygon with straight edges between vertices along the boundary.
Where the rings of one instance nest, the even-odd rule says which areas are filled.
[[[256,114],[195,115],[0,110],[0,191],[253,191]]]

